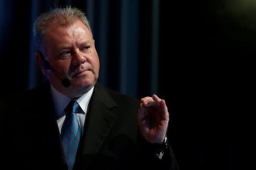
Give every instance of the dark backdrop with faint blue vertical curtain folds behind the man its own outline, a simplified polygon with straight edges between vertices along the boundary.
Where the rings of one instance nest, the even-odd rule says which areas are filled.
[[[92,24],[99,82],[138,99],[156,93],[166,100],[168,135],[180,169],[238,167],[234,141],[241,138],[243,95],[249,92],[255,54],[253,5],[238,0],[0,2],[1,97],[44,80],[33,58],[36,16],[54,6],[76,6]]]

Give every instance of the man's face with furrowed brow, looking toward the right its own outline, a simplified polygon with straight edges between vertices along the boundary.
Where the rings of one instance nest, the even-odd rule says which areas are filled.
[[[79,97],[94,86],[98,79],[100,61],[89,29],[77,20],[68,27],[49,24],[44,36],[46,59],[60,78],[69,78],[71,86],[47,70],[47,78],[64,95]]]

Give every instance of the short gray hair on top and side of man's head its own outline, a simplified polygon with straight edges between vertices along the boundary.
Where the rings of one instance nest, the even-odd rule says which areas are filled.
[[[76,20],[80,20],[89,29],[92,34],[92,29],[85,13],[75,7],[54,8],[49,12],[41,14],[33,25],[33,34],[35,39],[36,51],[44,53],[44,35],[50,23],[67,27],[73,24]],[[93,36],[93,35],[92,35]]]

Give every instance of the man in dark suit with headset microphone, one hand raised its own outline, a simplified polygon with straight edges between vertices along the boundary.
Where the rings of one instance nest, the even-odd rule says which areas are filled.
[[[40,15],[34,36],[48,82],[3,104],[7,169],[177,168],[164,100],[139,103],[97,83],[100,61],[80,10]]]

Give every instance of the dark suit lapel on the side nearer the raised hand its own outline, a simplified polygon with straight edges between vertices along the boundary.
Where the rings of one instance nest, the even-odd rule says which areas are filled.
[[[110,109],[117,107],[104,87],[96,83],[90,100],[82,139],[82,154],[96,155],[104,143],[117,116]],[[92,156],[93,157],[93,156]],[[92,162],[90,159],[89,162]]]

